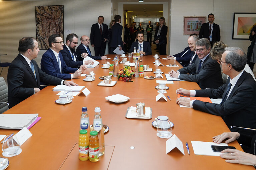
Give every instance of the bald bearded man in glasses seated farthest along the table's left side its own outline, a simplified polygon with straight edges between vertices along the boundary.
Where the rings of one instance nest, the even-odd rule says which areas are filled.
[[[107,56],[92,56],[91,55],[91,51],[89,48],[89,44],[90,44],[90,39],[88,36],[83,35],[80,38],[81,44],[76,48],[76,54],[77,54],[77,59],[79,61],[83,61],[83,58],[85,58],[86,56],[94,59],[94,60],[106,60]]]

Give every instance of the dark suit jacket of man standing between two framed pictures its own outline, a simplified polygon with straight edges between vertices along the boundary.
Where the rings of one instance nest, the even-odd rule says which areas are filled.
[[[199,38],[209,38],[209,22],[202,24],[199,31]],[[220,41],[220,26],[213,23],[212,42]]]

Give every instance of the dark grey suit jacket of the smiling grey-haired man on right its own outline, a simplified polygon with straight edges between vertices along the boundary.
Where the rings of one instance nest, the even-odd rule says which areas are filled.
[[[182,69],[179,69],[180,72],[179,79],[186,80],[189,82],[197,82],[197,84],[202,88],[218,88],[223,85],[220,64],[213,60],[210,55],[207,56],[205,61],[201,66],[199,74],[188,75],[187,73],[197,73],[198,65],[201,59],[197,57],[196,61]]]

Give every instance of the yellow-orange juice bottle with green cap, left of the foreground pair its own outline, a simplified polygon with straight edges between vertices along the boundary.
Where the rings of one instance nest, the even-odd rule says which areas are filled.
[[[79,131],[79,159],[81,161],[87,161],[89,159],[88,151],[89,151],[89,138],[87,134],[87,130],[83,129]]]

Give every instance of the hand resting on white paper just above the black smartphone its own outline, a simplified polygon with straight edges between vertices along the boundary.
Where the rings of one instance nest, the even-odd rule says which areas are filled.
[[[228,138],[228,140],[226,140],[225,143],[230,143],[235,141],[239,137],[240,137],[240,134],[238,132],[224,132],[220,135],[214,136],[213,142],[220,144],[223,140]]]

